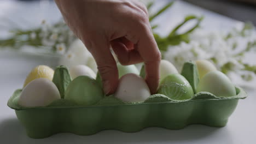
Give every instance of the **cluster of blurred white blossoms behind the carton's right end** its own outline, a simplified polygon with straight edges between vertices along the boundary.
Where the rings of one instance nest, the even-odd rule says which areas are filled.
[[[231,33],[232,36],[226,40],[228,33]],[[255,33],[253,31],[243,37],[234,30],[231,32],[211,32],[198,29],[190,34],[188,44],[181,43],[177,46],[168,47],[164,53],[164,59],[173,63],[179,71],[182,69],[184,62],[197,59],[212,61],[219,70],[227,63],[229,63],[229,70],[241,70],[243,65],[239,61],[243,59],[243,56],[237,56],[237,54],[246,49],[249,41],[256,39],[256,37],[252,38]]]

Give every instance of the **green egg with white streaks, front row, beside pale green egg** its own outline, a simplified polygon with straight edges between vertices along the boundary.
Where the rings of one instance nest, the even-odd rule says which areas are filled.
[[[190,99],[194,95],[189,82],[180,74],[166,76],[160,83],[158,93],[173,100]]]

